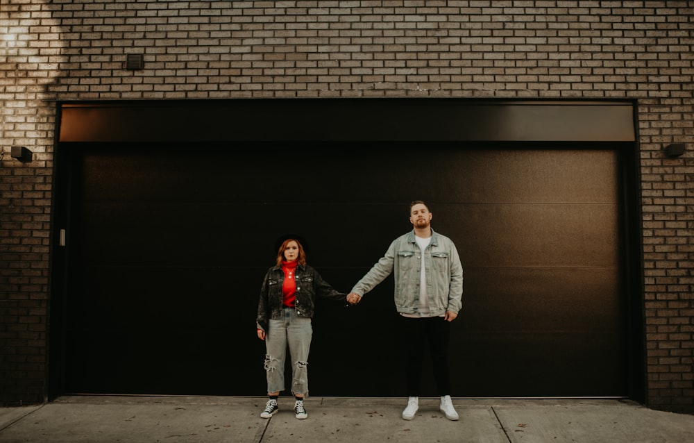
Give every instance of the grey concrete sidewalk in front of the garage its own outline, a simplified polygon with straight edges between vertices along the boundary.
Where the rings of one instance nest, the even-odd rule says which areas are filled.
[[[454,399],[459,421],[421,399],[309,397],[260,418],[264,397],[63,396],[42,406],[0,408],[0,442],[694,442],[694,415],[620,400]]]

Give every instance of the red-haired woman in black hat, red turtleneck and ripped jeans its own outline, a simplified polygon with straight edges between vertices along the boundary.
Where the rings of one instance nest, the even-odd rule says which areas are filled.
[[[291,358],[291,393],[296,418],[307,417],[303,399],[308,395],[308,353],[311,347],[316,295],[346,299],[306,264],[306,254],[296,237],[287,238],[277,252],[276,266],[268,269],[260,288],[256,319],[257,335],[265,341],[265,371],[269,400],[260,414],[270,418],[285,390],[285,354]]]

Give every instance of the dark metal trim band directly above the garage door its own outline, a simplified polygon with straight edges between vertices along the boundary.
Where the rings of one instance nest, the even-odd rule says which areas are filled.
[[[101,101],[60,110],[60,142],[635,140],[631,101]]]

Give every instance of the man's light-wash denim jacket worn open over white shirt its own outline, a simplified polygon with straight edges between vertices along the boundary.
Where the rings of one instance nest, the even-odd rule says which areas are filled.
[[[421,249],[414,240],[414,230],[393,240],[385,255],[373,265],[352,292],[366,294],[394,272],[395,305],[398,312],[414,314],[419,307]],[[424,265],[427,294],[432,317],[462,307],[463,267],[450,238],[432,229],[432,240],[425,249]]]

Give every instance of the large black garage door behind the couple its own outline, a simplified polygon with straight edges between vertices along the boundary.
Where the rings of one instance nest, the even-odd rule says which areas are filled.
[[[61,392],[263,395],[276,238],[348,292],[424,199],[464,265],[454,396],[632,394],[629,144],[292,137],[60,144]],[[404,394],[392,292],[319,302],[312,395]]]

